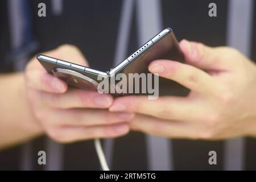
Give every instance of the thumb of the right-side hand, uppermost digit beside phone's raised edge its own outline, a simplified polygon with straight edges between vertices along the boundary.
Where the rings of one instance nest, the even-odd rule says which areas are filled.
[[[203,43],[181,40],[180,48],[188,64],[197,68],[219,71],[226,68],[226,63],[221,62],[218,49],[205,46]]]

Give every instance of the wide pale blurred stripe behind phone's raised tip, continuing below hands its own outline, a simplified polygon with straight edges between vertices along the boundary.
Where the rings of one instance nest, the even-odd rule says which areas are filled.
[[[162,10],[159,0],[137,1],[138,39],[142,45],[162,30]],[[148,169],[172,170],[170,140],[147,136]]]

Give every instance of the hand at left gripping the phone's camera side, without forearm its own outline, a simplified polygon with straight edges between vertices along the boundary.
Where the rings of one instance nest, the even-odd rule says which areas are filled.
[[[47,56],[88,66],[75,46],[64,45],[44,53]],[[129,132],[133,113],[108,111],[113,98],[97,91],[68,88],[46,72],[34,57],[26,67],[27,98],[35,118],[53,140],[74,142],[92,138],[119,137]]]

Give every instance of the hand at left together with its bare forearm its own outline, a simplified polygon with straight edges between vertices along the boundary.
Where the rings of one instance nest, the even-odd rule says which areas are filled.
[[[79,49],[64,45],[45,55],[88,66]],[[0,149],[48,134],[57,142],[127,134],[133,113],[109,112],[113,98],[68,85],[34,57],[24,73],[0,75]]]

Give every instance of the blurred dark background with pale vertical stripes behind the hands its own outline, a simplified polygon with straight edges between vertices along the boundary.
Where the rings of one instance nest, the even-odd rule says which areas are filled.
[[[217,16],[208,15],[216,3]],[[38,16],[39,3],[46,16]],[[209,46],[232,46],[256,60],[256,3],[253,0],[2,0],[0,1],[0,71],[22,71],[36,53],[61,44],[75,44],[90,67],[107,71],[146,40],[171,27],[178,40]],[[114,170],[256,169],[256,140],[171,140],[131,132],[104,140]],[[38,151],[47,165],[38,164]],[[209,165],[208,152],[217,152]],[[0,169],[98,170],[93,141],[57,144],[40,137],[0,151]]]

